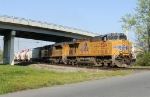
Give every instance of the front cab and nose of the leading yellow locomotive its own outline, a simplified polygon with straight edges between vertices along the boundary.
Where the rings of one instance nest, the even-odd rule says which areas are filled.
[[[112,45],[112,65],[117,65],[118,67],[130,66],[132,44],[127,40],[126,35],[124,33],[110,33],[104,37]],[[105,41],[105,38],[103,41]]]

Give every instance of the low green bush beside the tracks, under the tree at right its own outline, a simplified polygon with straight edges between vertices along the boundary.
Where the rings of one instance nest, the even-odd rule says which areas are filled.
[[[150,52],[138,58],[135,62],[136,66],[150,66]]]

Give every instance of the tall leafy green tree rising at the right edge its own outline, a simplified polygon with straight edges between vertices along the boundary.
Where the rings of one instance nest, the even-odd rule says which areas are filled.
[[[138,0],[135,8],[136,14],[126,14],[121,18],[124,24],[122,28],[133,27],[136,35],[136,46],[143,49],[144,52],[150,52],[150,0]],[[125,25],[125,27],[124,27]]]

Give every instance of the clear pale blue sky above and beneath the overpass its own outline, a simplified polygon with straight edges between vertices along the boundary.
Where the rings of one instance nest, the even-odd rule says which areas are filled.
[[[133,14],[137,0],[0,0],[0,15],[14,16],[81,29],[97,34],[123,32],[120,18]],[[129,31],[134,41],[134,32]],[[52,44],[15,38],[15,52]],[[3,37],[0,36],[3,48]]]

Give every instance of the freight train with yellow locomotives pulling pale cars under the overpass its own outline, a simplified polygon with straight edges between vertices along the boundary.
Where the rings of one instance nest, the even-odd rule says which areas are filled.
[[[14,60],[129,67],[132,62],[132,43],[124,33],[109,33],[21,51],[15,53]]]

